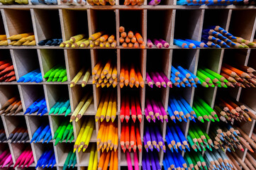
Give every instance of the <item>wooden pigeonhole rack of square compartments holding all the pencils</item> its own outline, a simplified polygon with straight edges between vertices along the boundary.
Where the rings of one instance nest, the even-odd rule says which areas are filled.
[[[204,66],[208,69],[221,72],[223,62],[227,64],[240,63],[249,67],[256,68],[256,49],[188,49],[184,50],[174,45],[174,38],[188,38],[192,40],[201,40],[201,33],[206,26],[221,26],[233,35],[243,37],[252,41],[255,39],[256,31],[256,7],[255,6],[176,6],[176,0],[166,0],[158,6],[148,6],[147,1],[143,6],[124,6],[123,0],[116,0],[115,6],[67,6],[61,4],[58,0],[57,5],[1,5],[0,16],[0,34],[6,34],[7,37],[19,33],[34,33],[35,42],[38,44],[40,40],[47,38],[62,38],[63,41],[69,40],[70,37],[77,34],[91,35],[101,30],[115,35],[117,46],[111,48],[85,47],[71,48],[58,46],[0,46],[0,59],[9,59],[13,62],[16,79],[21,78],[34,69],[40,69],[44,76],[52,67],[62,64],[67,69],[67,81],[65,82],[47,82],[43,79],[40,83],[18,83],[0,82],[0,106],[9,98],[19,96],[22,101],[23,112],[16,115],[1,115],[0,123],[4,126],[6,137],[19,125],[28,128],[30,140],[35,130],[43,123],[50,124],[52,137],[57,127],[63,120],[69,120],[70,115],[77,107],[82,96],[87,92],[93,94],[94,99],[89,108],[84,113],[82,120],[72,122],[74,128],[74,140],[71,143],[64,140],[56,146],[55,140],[51,140],[48,144],[37,142],[29,143],[11,143],[10,141],[0,144],[1,148],[9,148],[13,163],[21,154],[26,146],[30,145],[33,150],[35,163],[30,165],[28,169],[34,169],[40,155],[48,149],[52,148],[55,152],[56,165],[54,169],[62,170],[63,164],[70,148],[74,147],[77,140],[79,130],[85,118],[93,117],[96,114],[101,95],[106,91],[116,91],[117,93],[117,116],[118,120],[118,137],[121,135],[121,98],[124,91],[132,91],[140,99],[140,106],[143,112],[143,119],[140,123],[140,137],[143,141],[143,132],[145,127],[145,98],[159,98],[162,105],[167,111],[168,100],[170,94],[177,94],[193,106],[194,97],[200,96],[213,108],[216,97],[231,96],[241,103],[245,103],[252,113],[256,114],[256,90],[253,88],[242,89],[235,87],[233,89],[204,88],[198,85],[195,87],[177,88],[157,88],[152,89],[145,81],[146,72],[150,70],[160,70],[164,72],[168,79],[171,76],[172,64],[179,64],[184,69],[196,74],[198,67]],[[157,17],[157,19],[155,19]],[[153,19],[154,18],[154,19]],[[153,47],[149,49],[133,49],[124,48],[119,42],[119,27],[124,26],[128,30],[134,30],[141,33],[144,40],[147,38],[162,38],[169,42],[167,49],[157,49]],[[154,37],[152,37],[154,36]],[[11,42],[11,41],[9,41]],[[117,72],[120,74],[123,64],[135,63],[138,65],[140,72],[145,81],[145,86],[138,89],[133,87],[123,87],[118,85],[116,88],[106,87],[96,88],[92,84],[92,78],[89,78],[87,86],[82,87],[82,78],[74,87],[70,87],[70,81],[75,77],[82,67],[90,67],[91,69],[101,60],[112,58],[117,64]],[[128,94],[128,93],[127,93]],[[65,117],[65,113],[61,115],[43,116],[32,113],[23,115],[24,111],[40,96],[44,96],[48,111],[61,97],[70,100],[71,113]],[[169,122],[172,120],[169,119]],[[196,120],[196,122],[198,122]],[[148,122],[147,122],[148,123]],[[157,122],[160,132],[165,140],[166,127],[169,123]],[[178,123],[184,135],[187,137],[189,130],[189,121]],[[234,122],[239,125],[242,130],[251,137],[252,130],[255,128],[255,120],[247,123]],[[0,127],[1,127],[0,125]],[[91,136],[90,144],[96,142],[96,136],[99,132],[100,122],[97,122]],[[211,122],[202,123],[208,132],[211,128]],[[165,140],[166,142],[166,140]],[[121,146],[118,142],[118,169],[126,169],[126,154],[123,154]],[[77,152],[77,164],[75,169],[87,169],[89,164],[89,149],[86,152]],[[143,145],[144,147],[144,145]],[[167,148],[169,149],[169,148]],[[143,149],[145,152],[145,149]],[[238,156],[245,161],[245,152],[238,151]],[[133,154],[131,154],[133,157]],[[160,149],[159,159],[162,166],[164,152]],[[99,160],[99,156],[98,156]],[[139,166],[141,169],[142,153],[139,153]],[[20,168],[16,168],[19,170]],[[43,168],[37,168],[41,170]]]

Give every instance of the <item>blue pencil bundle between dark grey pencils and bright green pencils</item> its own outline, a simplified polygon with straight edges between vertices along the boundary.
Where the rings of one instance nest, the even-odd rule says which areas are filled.
[[[41,125],[37,130],[35,130],[30,143],[32,143],[33,141],[35,141],[35,143],[40,142],[41,140],[43,140],[43,143],[45,141],[47,141],[47,143],[49,143],[50,140],[52,140],[52,133],[50,131],[49,124]]]

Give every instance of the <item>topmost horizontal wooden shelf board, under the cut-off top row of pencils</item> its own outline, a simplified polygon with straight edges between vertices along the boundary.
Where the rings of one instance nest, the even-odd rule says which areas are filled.
[[[87,9],[97,9],[97,10],[113,10],[113,9],[123,9],[123,10],[166,10],[166,9],[255,9],[256,6],[179,6],[179,5],[143,5],[143,6],[125,6],[125,5],[115,5],[115,6],[67,6],[67,5],[1,5],[0,8],[12,8],[12,9],[71,9],[71,10],[87,10]]]

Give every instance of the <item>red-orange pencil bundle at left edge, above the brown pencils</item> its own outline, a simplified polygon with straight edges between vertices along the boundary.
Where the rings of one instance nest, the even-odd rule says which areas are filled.
[[[0,81],[14,81],[16,80],[13,64],[10,60],[0,61]]]

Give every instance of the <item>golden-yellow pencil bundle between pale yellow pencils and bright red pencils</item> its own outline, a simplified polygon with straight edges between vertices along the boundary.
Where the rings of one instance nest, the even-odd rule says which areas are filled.
[[[98,110],[95,115],[95,121],[98,122],[99,118],[101,118],[101,122],[106,118],[106,122],[110,119],[112,123],[116,119],[116,111],[117,111],[117,94],[116,91],[107,91],[106,93],[102,93],[101,101],[98,106]]]

